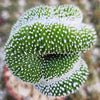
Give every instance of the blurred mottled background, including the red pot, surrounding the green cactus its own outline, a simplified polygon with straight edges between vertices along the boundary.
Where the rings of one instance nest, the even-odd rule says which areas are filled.
[[[57,100],[41,95],[32,84],[17,80],[4,67],[4,45],[12,25],[27,9],[62,4],[74,4],[82,10],[83,22],[95,27],[97,42],[91,50],[82,54],[89,67],[85,84],[76,93],[58,99],[100,100],[100,0],[0,0],[0,100]]]

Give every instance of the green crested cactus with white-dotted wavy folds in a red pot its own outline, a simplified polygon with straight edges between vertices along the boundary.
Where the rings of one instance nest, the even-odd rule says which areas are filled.
[[[95,43],[95,30],[82,23],[72,5],[28,10],[11,30],[5,61],[11,72],[31,82],[43,94],[64,96],[86,80],[88,68],[80,57]]]

